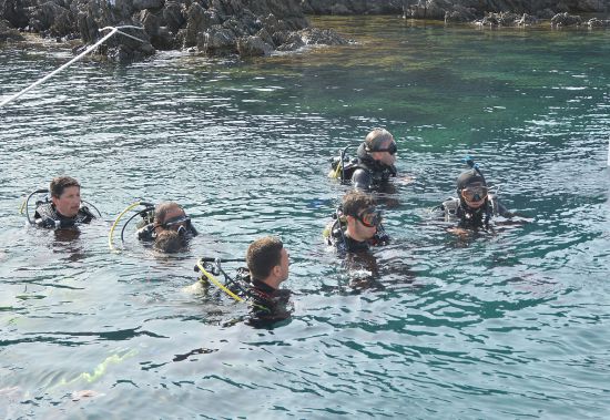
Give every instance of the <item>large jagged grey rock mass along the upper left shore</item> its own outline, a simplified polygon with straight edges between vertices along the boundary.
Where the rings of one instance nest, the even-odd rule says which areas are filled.
[[[301,0],[0,0],[9,27],[55,38],[96,42],[104,27],[133,25],[98,50],[131,61],[156,50],[189,49],[209,55],[268,55],[307,44],[342,44],[332,30],[316,31]]]

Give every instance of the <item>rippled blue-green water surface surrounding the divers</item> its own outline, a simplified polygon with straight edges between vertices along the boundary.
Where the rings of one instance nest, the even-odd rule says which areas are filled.
[[[85,62],[0,111],[1,417],[609,416],[610,32],[316,23],[358,43]],[[3,47],[0,94],[70,57]],[[387,204],[385,288],[358,291],[321,240],[345,191],[327,160],[379,125],[416,182]],[[430,223],[466,153],[533,223],[466,240]],[[18,215],[60,173],[104,214],[72,240]],[[141,197],[187,207],[189,253],[108,252]],[[245,308],[184,290],[197,256],[270,233],[292,256],[289,322],[233,325]]]

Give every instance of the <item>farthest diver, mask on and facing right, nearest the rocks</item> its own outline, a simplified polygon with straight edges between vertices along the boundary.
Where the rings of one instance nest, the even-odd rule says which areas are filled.
[[[345,147],[339,157],[331,160],[332,171],[328,176],[349,183],[355,188],[369,191],[387,184],[396,176],[396,152],[394,136],[385,129],[374,129],[360,144],[357,157],[348,160]]]

